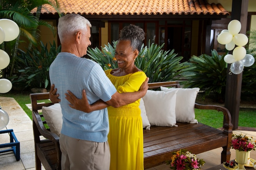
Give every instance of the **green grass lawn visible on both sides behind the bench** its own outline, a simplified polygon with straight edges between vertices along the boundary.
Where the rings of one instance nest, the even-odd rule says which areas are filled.
[[[20,107],[27,113],[27,115],[31,118],[31,110],[27,108],[26,104],[30,103],[29,93],[20,93],[16,94],[17,92],[8,92],[5,94],[0,94],[2,97],[12,97],[14,98]],[[42,101],[42,102],[48,102]],[[198,122],[203,124],[207,124],[209,126],[220,128],[222,127],[223,115],[222,112],[218,111],[211,111],[211,110],[201,110],[195,109],[195,118]],[[256,127],[256,109],[240,109],[239,112],[239,122],[238,126],[243,127]]]

